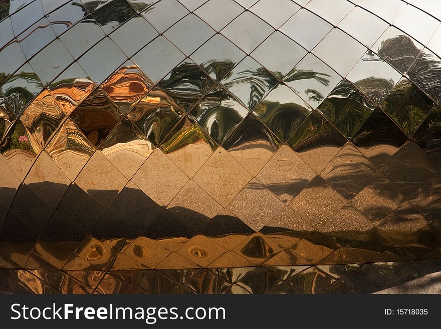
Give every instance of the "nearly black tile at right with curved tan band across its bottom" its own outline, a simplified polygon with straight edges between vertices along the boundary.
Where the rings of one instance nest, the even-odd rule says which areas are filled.
[[[381,170],[406,140],[406,135],[377,108],[355,134],[353,143]]]

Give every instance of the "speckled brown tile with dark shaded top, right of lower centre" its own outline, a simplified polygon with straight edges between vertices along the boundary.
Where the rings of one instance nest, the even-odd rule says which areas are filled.
[[[290,207],[318,229],[341,209],[346,200],[325,180],[316,176],[290,203]]]

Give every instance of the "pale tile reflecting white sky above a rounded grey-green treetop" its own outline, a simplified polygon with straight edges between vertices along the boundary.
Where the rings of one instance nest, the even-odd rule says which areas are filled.
[[[379,104],[401,79],[401,74],[369,50],[349,72],[346,79],[374,104]]]

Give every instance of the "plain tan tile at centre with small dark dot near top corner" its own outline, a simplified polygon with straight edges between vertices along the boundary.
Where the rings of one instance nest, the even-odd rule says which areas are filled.
[[[223,148],[217,148],[193,180],[223,207],[235,198],[252,176]]]

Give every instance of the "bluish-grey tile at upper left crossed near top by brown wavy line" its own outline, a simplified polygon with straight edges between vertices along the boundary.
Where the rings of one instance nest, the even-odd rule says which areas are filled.
[[[47,18],[43,18],[18,36],[20,47],[29,60],[57,36]]]

